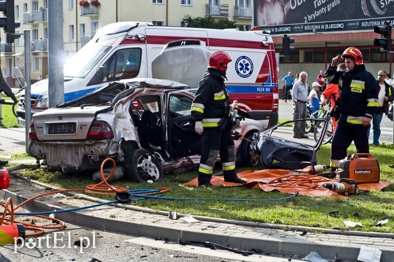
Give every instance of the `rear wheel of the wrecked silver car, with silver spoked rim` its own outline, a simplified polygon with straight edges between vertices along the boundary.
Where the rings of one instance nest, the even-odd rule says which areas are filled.
[[[145,149],[137,149],[126,157],[127,177],[134,182],[146,182],[164,178],[160,162]]]

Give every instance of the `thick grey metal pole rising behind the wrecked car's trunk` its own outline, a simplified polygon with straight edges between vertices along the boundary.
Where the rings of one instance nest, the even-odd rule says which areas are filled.
[[[48,1],[48,106],[65,102],[63,0]]]

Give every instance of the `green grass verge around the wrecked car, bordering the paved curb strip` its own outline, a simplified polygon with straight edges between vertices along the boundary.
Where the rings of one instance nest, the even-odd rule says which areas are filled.
[[[394,181],[392,156],[394,147],[381,144],[379,147],[371,146],[371,154],[379,161],[381,180]],[[355,153],[354,146],[349,148],[349,154]],[[329,164],[330,145],[321,148],[318,154],[319,164]],[[250,168],[237,168],[243,171]],[[255,169],[262,169],[257,166]],[[214,172],[219,169],[215,169]],[[62,188],[84,188],[94,183],[90,173],[67,173],[49,172],[43,168],[35,171],[21,170],[25,176],[40,180]],[[121,179],[113,182],[117,186],[129,189],[166,187],[170,191],[165,197],[204,197],[204,198],[244,198],[244,199],[273,199],[288,197],[288,194],[279,192],[263,192],[258,189],[245,187],[215,187],[194,188],[186,187],[186,183],[197,176],[196,172],[184,172],[180,174],[166,174],[161,181],[151,184],[136,184]],[[12,180],[11,180],[12,183]],[[113,197],[101,197],[113,200]],[[286,201],[182,201],[182,200],[156,200],[149,199],[131,204],[149,207],[156,210],[176,211],[183,214],[202,215],[208,217],[253,221],[260,223],[297,225],[307,227],[320,227],[329,229],[348,229],[344,220],[361,222],[362,228],[354,228],[360,231],[394,232],[394,185],[389,186],[383,192],[372,191],[364,195],[350,197],[349,199],[337,199],[331,197],[307,197],[299,196]],[[334,212],[335,215],[329,215]],[[374,226],[377,222],[389,219],[389,223],[381,227]]]

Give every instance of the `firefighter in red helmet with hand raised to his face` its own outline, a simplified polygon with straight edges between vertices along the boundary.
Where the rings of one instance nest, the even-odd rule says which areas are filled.
[[[346,157],[352,141],[359,153],[369,153],[367,131],[378,106],[377,81],[365,70],[360,50],[349,47],[341,57],[345,60],[346,69],[336,71],[340,63],[338,55],[332,59],[325,73],[328,81],[339,87],[336,101],[339,120],[332,138],[331,171],[338,167],[339,160]]]

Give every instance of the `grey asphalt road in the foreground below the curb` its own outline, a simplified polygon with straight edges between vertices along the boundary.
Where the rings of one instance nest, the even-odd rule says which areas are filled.
[[[36,223],[39,222],[36,221]],[[39,246],[38,237],[45,237],[45,239],[41,239]],[[300,257],[274,254],[242,256],[230,251],[213,250],[202,245],[180,245],[165,239],[119,234],[70,224],[67,224],[65,229],[48,232],[38,237],[32,241],[34,247],[27,247],[27,242],[26,244],[17,244],[16,248],[14,245],[0,246],[0,261],[287,262],[290,259],[291,261],[301,261]],[[76,243],[81,239],[82,247]]]

